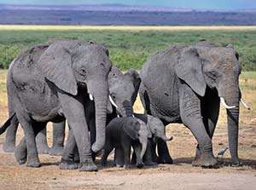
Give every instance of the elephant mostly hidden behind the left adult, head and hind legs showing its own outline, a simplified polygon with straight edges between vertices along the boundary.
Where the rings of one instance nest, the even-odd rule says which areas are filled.
[[[130,69],[128,72],[121,72],[116,66],[112,66],[108,74],[108,87],[111,91],[111,101],[113,102],[113,112],[108,113],[107,124],[113,118],[116,118],[118,115],[122,117],[132,116],[133,109],[132,105],[136,101],[137,92],[141,78],[136,70]],[[91,143],[94,143],[96,140],[95,134],[95,116],[94,112],[94,102],[89,101],[87,103],[87,108],[90,111],[87,118],[90,123],[90,138]],[[91,114],[90,114],[91,113]],[[46,138],[46,129],[39,132],[36,138],[38,153],[49,153],[51,155],[60,156],[63,153],[64,148],[64,139],[65,139],[65,123],[53,123],[53,144],[49,148]],[[15,151],[15,137],[16,130],[18,128],[19,121],[18,119],[13,119],[11,126],[7,130],[5,141],[3,143],[3,150],[5,152],[14,152]]]

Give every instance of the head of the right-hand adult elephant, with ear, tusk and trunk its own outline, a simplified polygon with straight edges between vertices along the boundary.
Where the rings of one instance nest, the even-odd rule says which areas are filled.
[[[203,97],[207,88],[216,89],[220,101],[227,110],[230,154],[239,164],[237,154],[239,101],[239,75],[241,65],[238,53],[230,47],[218,47],[212,43],[196,43],[183,48],[174,67],[177,77],[188,83],[197,95]]]

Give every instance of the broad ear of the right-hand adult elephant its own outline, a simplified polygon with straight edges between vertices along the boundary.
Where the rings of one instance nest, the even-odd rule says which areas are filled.
[[[201,58],[195,48],[184,49],[174,66],[177,77],[188,83],[196,94],[204,96],[207,83],[202,74]]]

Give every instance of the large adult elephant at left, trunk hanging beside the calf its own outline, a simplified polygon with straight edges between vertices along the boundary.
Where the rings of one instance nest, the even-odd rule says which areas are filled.
[[[112,111],[108,101],[111,66],[108,49],[75,40],[35,46],[13,61],[7,82],[13,109],[9,117],[18,119],[25,133],[15,149],[19,164],[40,166],[36,135],[47,122],[67,118],[68,139],[77,142],[80,170],[97,170],[90,149],[97,153],[105,143],[107,107]],[[96,115],[96,142],[91,148],[85,117],[89,94],[94,97]],[[61,160],[65,159],[63,155]]]

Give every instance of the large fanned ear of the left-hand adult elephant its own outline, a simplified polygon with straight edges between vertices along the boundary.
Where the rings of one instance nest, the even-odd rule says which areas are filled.
[[[78,84],[73,74],[72,56],[68,49],[68,42],[50,45],[39,59],[38,70],[59,89],[77,95]]]

